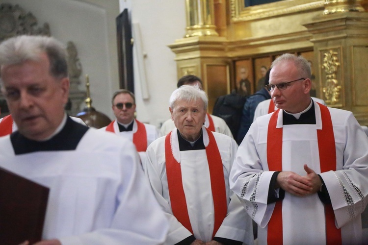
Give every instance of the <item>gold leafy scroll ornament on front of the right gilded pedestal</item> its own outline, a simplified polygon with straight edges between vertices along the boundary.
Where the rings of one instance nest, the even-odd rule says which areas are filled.
[[[325,52],[323,58],[322,69],[326,73],[326,87],[323,87],[323,93],[327,104],[335,104],[340,100],[341,85],[338,85],[337,72],[340,62],[338,52],[329,50]]]

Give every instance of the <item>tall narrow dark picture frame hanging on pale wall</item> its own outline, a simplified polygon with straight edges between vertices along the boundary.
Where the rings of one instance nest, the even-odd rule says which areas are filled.
[[[128,9],[116,17],[119,87],[134,93],[133,44]]]

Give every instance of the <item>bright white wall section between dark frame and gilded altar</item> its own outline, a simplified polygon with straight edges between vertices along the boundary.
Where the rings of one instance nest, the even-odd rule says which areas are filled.
[[[142,95],[142,80],[134,45],[134,86],[137,119],[156,126],[170,118],[169,98],[176,89],[175,54],[167,47],[185,34],[184,0],[120,0],[120,12],[128,8],[131,23],[139,25],[149,98]],[[136,30],[133,30],[136,31]]]

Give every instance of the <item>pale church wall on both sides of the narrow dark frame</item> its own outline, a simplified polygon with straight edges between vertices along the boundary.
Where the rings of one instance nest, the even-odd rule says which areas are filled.
[[[92,105],[111,119],[110,98],[119,89],[116,17],[128,8],[147,54],[143,62],[149,98],[143,98],[134,50],[137,119],[159,126],[170,118],[168,100],[176,89],[177,70],[175,54],[167,45],[185,34],[184,0],[0,0],[6,2],[32,12],[38,26],[49,23],[52,35],[64,44],[75,43],[83,69],[80,90],[85,91],[88,73]]]

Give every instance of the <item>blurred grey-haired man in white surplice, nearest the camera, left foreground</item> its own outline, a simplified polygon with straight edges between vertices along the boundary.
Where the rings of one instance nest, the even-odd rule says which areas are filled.
[[[66,115],[67,71],[65,49],[52,37],[0,45],[1,89],[18,126],[0,137],[0,167],[50,189],[37,244],[163,243],[168,222],[133,144]]]

